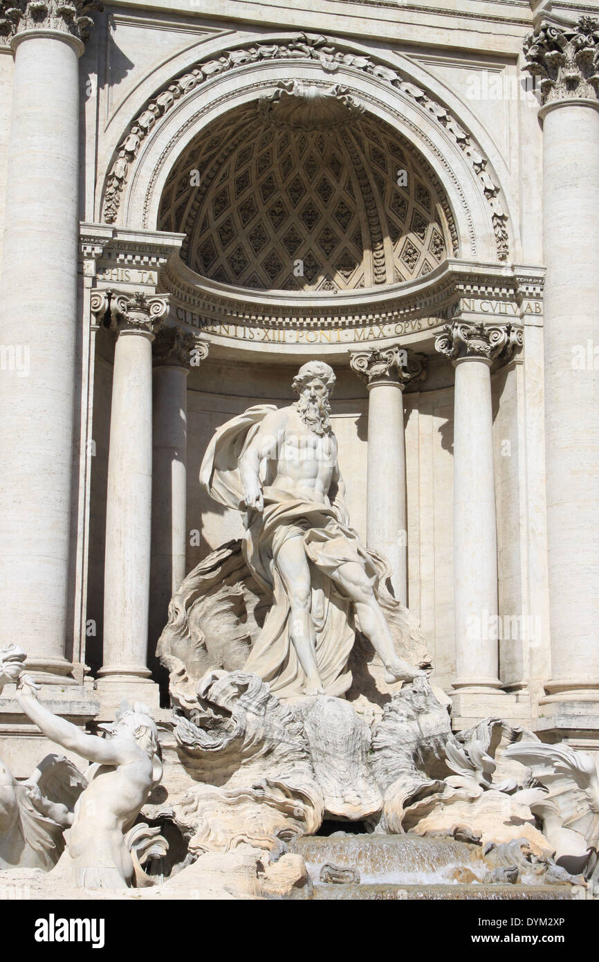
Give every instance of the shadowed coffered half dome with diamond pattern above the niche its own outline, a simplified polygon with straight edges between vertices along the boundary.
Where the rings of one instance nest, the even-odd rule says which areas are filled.
[[[422,277],[457,253],[449,204],[409,140],[343,88],[282,85],[194,139],[159,227],[202,277],[262,291],[350,291]]]

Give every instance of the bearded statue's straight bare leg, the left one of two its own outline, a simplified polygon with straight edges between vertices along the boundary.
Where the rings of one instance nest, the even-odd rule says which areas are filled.
[[[306,694],[323,694],[322,680],[316,665],[312,578],[303,538],[289,538],[279,549],[276,564],[289,599],[289,634],[306,675]]]

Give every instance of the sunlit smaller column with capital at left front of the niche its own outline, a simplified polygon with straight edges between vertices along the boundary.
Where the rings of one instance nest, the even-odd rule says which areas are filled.
[[[165,297],[112,294],[116,334],[104,572],[104,664],[98,691],[118,704],[135,688],[154,701],[148,681],[148,609],[152,511],[152,342]]]

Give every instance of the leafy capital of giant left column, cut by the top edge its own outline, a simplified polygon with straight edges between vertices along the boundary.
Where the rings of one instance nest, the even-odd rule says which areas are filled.
[[[87,15],[92,10],[104,8],[94,0],[0,0],[0,36],[54,30],[86,40],[93,26]]]

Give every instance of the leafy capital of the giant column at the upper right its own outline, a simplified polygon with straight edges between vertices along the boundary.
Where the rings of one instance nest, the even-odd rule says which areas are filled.
[[[561,26],[546,20],[524,40],[524,69],[540,78],[542,106],[599,100],[599,21],[581,16]]]

